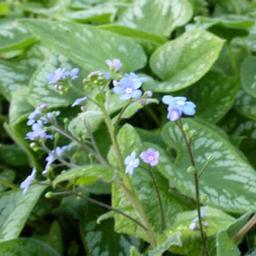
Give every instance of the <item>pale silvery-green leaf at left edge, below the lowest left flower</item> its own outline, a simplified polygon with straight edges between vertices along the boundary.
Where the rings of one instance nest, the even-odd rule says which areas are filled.
[[[28,188],[25,195],[21,194],[20,189],[0,194],[0,242],[20,236],[29,213],[44,189],[43,185],[34,185]]]

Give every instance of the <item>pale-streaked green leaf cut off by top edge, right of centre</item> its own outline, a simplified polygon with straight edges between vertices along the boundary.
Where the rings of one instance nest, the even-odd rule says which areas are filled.
[[[192,18],[192,5],[187,0],[139,0],[117,20],[119,24],[157,36],[170,36],[172,31]]]

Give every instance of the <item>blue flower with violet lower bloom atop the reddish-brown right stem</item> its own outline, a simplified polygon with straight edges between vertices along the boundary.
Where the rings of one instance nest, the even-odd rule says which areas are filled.
[[[172,97],[171,95],[165,95],[162,99],[164,104],[168,105],[167,118],[171,121],[177,121],[183,114],[193,116],[196,113],[196,104],[192,101],[186,101],[186,97]]]

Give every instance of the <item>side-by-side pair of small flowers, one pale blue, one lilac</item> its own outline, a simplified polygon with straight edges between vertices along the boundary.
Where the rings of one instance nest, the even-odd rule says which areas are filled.
[[[146,151],[140,153],[140,159],[150,166],[156,166],[158,164],[159,152],[154,148],[148,148]],[[140,159],[136,158],[136,152],[133,151],[130,156],[126,156],[124,159],[125,173],[133,174],[133,170],[140,165]]]

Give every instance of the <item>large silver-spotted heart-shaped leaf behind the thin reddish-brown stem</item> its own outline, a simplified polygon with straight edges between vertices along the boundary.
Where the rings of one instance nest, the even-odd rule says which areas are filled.
[[[209,198],[207,204],[228,212],[255,211],[253,184],[256,182],[256,173],[252,166],[241,158],[236,148],[209,126],[196,123],[192,119],[185,119],[184,124],[188,125],[189,130],[196,131],[196,138],[192,143],[196,168],[200,171],[209,156],[214,159],[200,178],[201,193]],[[172,180],[182,193],[195,198],[193,175],[186,171],[191,165],[188,149],[178,125],[174,122],[165,124],[163,137],[170,147],[175,148],[178,155],[175,162],[171,163],[162,151],[158,169]]]

